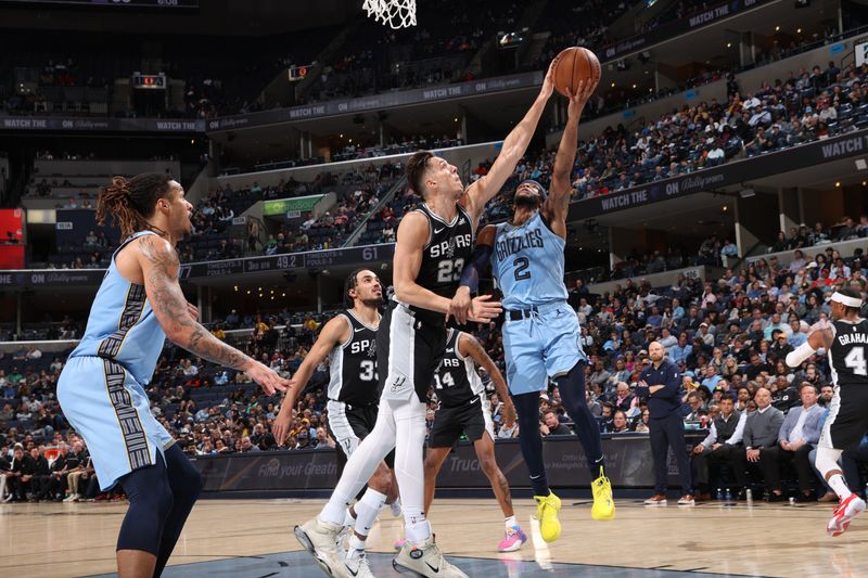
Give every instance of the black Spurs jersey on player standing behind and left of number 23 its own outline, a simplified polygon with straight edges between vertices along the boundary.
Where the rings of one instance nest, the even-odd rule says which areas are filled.
[[[353,332],[329,354],[329,399],[350,406],[376,403],[376,327],[365,324],[350,309],[339,314],[349,322]]]

